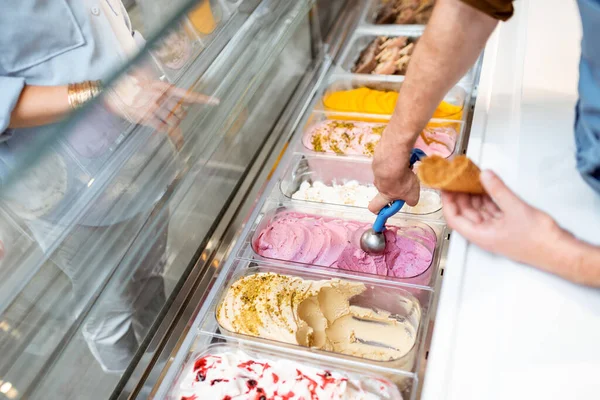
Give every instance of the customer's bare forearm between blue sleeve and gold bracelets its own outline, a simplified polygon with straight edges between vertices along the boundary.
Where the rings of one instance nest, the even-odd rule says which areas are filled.
[[[71,111],[67,86],[31,86],[23,88],[10,116],[10,128],[30,128],[62,119]]]

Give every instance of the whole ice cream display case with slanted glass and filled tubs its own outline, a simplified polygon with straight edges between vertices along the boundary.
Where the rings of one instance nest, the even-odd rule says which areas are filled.
[[[182,1],[159,17],[137,2],[146,47],[3,179],[0,398],[420,398],[448,246],[440,193],[423,187],[389,220],[385,254],[357,244],[403,77],[355,67],[383,37],[394,65],[410,56],[433,2],[404,3]],[[164,132],[113,119],[109,97],[140,71],[206,97],[140,106],[168,104],[180,123]],[[417,147],[464,152],[478,73]],[[99,124],[114,133],[101,156],[80,151],[72,137]],[[38,214],[14,201],[48,187]]]

